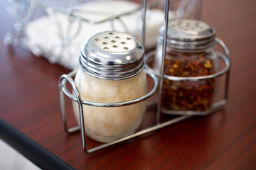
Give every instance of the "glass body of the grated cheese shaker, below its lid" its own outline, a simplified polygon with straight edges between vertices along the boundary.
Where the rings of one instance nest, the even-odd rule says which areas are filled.
[[[147,93],[146,74],[122,80],[105,80],[91,77],[78,69],[75,76],[82,100],[101,103],[130,101]],[[75,118],[80,123],[78,104],[73,102]],[[85,132],[93,140],[112,142],[131,135],[142,123],[146,101],[129,106],[94,107],[83,105]]]

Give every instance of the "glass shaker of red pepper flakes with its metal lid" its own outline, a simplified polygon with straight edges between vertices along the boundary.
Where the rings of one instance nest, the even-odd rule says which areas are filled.
[[[159,29],[156,62],[159,70],[164,27]],[[169,22],[161,94],[162,112],[167,114],[206,114],[212,107],[216,79],[178,81],[168,77],[204,77],[218,72],[214,49],[215,29],[202,21],[176,19]]]

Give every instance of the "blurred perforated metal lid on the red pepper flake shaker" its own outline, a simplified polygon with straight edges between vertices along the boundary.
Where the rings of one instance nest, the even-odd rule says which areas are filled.
[[[164,27],[159,29],[159,43],[163,42]],[[176,19],[169,22],[167,45],[178,49],[197,50],[215,44],[215,29],[202,21]]]

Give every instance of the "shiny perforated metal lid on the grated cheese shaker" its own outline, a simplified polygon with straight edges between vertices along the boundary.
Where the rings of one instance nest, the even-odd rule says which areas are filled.
[[[119,80],[144,68],[144,48],[132,35],[117,31],[97,33],[81,46],[80,68],[92,77]]]

